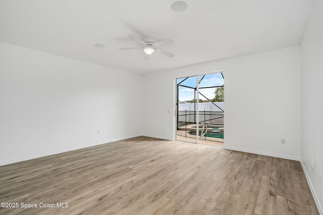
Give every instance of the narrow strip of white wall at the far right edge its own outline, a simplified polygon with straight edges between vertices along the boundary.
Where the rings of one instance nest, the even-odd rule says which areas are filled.
[[[323,1],[315,1],[301,42],[301,162],[320,214],[323,214],[322,12]]]

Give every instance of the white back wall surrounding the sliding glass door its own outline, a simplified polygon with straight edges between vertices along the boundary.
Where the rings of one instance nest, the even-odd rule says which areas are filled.
[[[145,75],[144,135],[173,139],[175,79],[215,71],[225,71],[225,148],[299,160],[300,46]]]

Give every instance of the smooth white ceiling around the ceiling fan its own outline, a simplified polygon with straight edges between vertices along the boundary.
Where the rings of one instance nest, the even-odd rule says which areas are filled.
[[[314,0],[0,0],[0,41],[138,74],[300,44]],[[144,60],[129,34],[156,40],[170,58]],[[104,49],[95,44],[103,44]]]

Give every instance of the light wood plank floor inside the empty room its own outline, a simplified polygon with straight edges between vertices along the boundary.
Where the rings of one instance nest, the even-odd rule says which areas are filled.
[[[1,166],[0,201],[19,203],[0,214],[318,214],[297,161],[150,137]],[[68,207],[39,207],[56,202]]]

